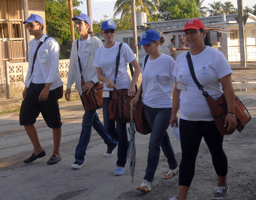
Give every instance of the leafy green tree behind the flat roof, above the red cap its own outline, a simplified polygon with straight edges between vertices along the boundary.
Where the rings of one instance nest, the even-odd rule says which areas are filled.
[[[158,18],[179,20],[200,17],[194,0],[161,0]]]

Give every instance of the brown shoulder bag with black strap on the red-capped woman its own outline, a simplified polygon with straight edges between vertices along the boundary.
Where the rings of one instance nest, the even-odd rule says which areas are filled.
[[[207,91],[204,91],[203,86],[198,82],[195,76],[195,71],[194,71],[193,63],[192,63],[189,52],[187,53],[186,57],[189,63],[189,70],[190,70],[191,76],[195,84],[198,86],[198,89],[203,91],[203,95],[212,112],[212,117],[215,122],[215,125],[217,126],[218,131],[220,132],[221,135],[232,134],[235,130],[227,131],[227,129],[224,127],[224,120],[227,115],[227,103],[226,103],[224,94],[222,94],[221,97],[218,98],[218,100],[214,100],[212,96],[208,94]],[[235,114],[236,114],[236,122],[237,122],[236,129],[239,132],[241,132],[244,126],[250,121],[251,116],[248,110],[245,108],[245,106],[242,104],[242,102],[239,100],[237,96],[235,96]]]

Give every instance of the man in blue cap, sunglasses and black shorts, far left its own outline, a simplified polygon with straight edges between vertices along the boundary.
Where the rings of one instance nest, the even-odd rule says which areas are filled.
[[[35,37],[29,42],[29,69],[22,93],[24,100],[20,108],[20,125],[24,126],[34,146],[34,152],[23,162],[30,163],[46,155],[34,126],[41,112],[47,126],[52,129],[53,153],[47,161],[51,165],[61,160],[59,147],[62,123],[57,100],[57,88],[63,85],[58,73],[60,47],[56,40],[47,38],[43,33],[44,20],[41,16],[31,14],[23,23],[26,24],[29,34]]]

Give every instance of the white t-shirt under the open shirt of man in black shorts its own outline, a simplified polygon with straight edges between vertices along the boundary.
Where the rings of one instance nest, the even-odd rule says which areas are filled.
[[[38,44],[40,42],[41,42],[40,40],[35,40],[35,42],[33,43],[32,47],[31,47],[31,52],[33,52],[33,54],[35,54],[36,48],[38,47]],[[34,55],[33,55],[33,57],[34,57]],[[38,57],[36,57],[36,59],[35,59],[32,83],[37,83],[37,84],[45,83],[43,73],[42,73],[41,68],[39,66]]]

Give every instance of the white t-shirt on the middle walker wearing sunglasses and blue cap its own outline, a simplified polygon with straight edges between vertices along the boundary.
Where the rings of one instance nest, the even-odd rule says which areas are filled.
[[[100,67],[103,75],[112,81],[115,79],[116,56],[119,51],[119,44],[119,42],[115,42],[114,46],[111,48],[105,48],[105,45],[99,47],[96,50],[96,56],[93,63],[93,66]],[[131,51],[131,48],[126,43],[122,43],[120,50],[120,63],[116,78],[116,89],[129,89],[131,79],[127,73],[127,63],[131,63],[135,59],[136,57]],[[103,89],[113,90],[113,88],[108,88],[106,83],[104,83]]]

